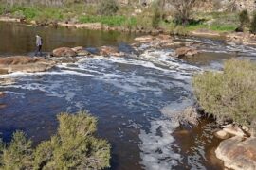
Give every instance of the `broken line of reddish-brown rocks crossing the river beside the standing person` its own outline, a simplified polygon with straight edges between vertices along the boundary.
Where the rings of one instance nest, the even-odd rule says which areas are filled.
[[[153,48],[169,48],[175,49],[175,56],[180,59],[192,57],[199,52],[191,46],[191,43],[174,42],[173,37],[160,34],[158,36],[142,36],[135,39],[135,43],[131,44],[132,51],[139,53],[142,43]],[[82,46],[74,48],[60,47],[54,49],[44,58],[28,57],[28,56],[11,56],[0,59],[0,75],[10,74],[13,72],[44,72],[52,69],[58,63],[75,62],[84,57],[102,56],[102,57],[122,57],[124,51],[114,46],[101,46],[96,48],[96,53],[91,53]]]

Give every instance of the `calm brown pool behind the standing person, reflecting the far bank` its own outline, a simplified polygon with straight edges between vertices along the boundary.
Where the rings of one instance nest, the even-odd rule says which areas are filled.
[[[131,42],[134,35],[116,31],[85,30],[45,26],[26,26],[18,23],[0,22],[0,55],[27,55],[35,51],[35,35],[43,38],[43,51],[50,52],[57,47],[98,47]]]

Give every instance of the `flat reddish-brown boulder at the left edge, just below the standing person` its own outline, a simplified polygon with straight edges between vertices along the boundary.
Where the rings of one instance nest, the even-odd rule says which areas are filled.
[[[31,58],[27,56],[15,56],[0,58],[0,68],[2,74],[13,72],[43,72],[53,67],[53,63],[46,59]]]

